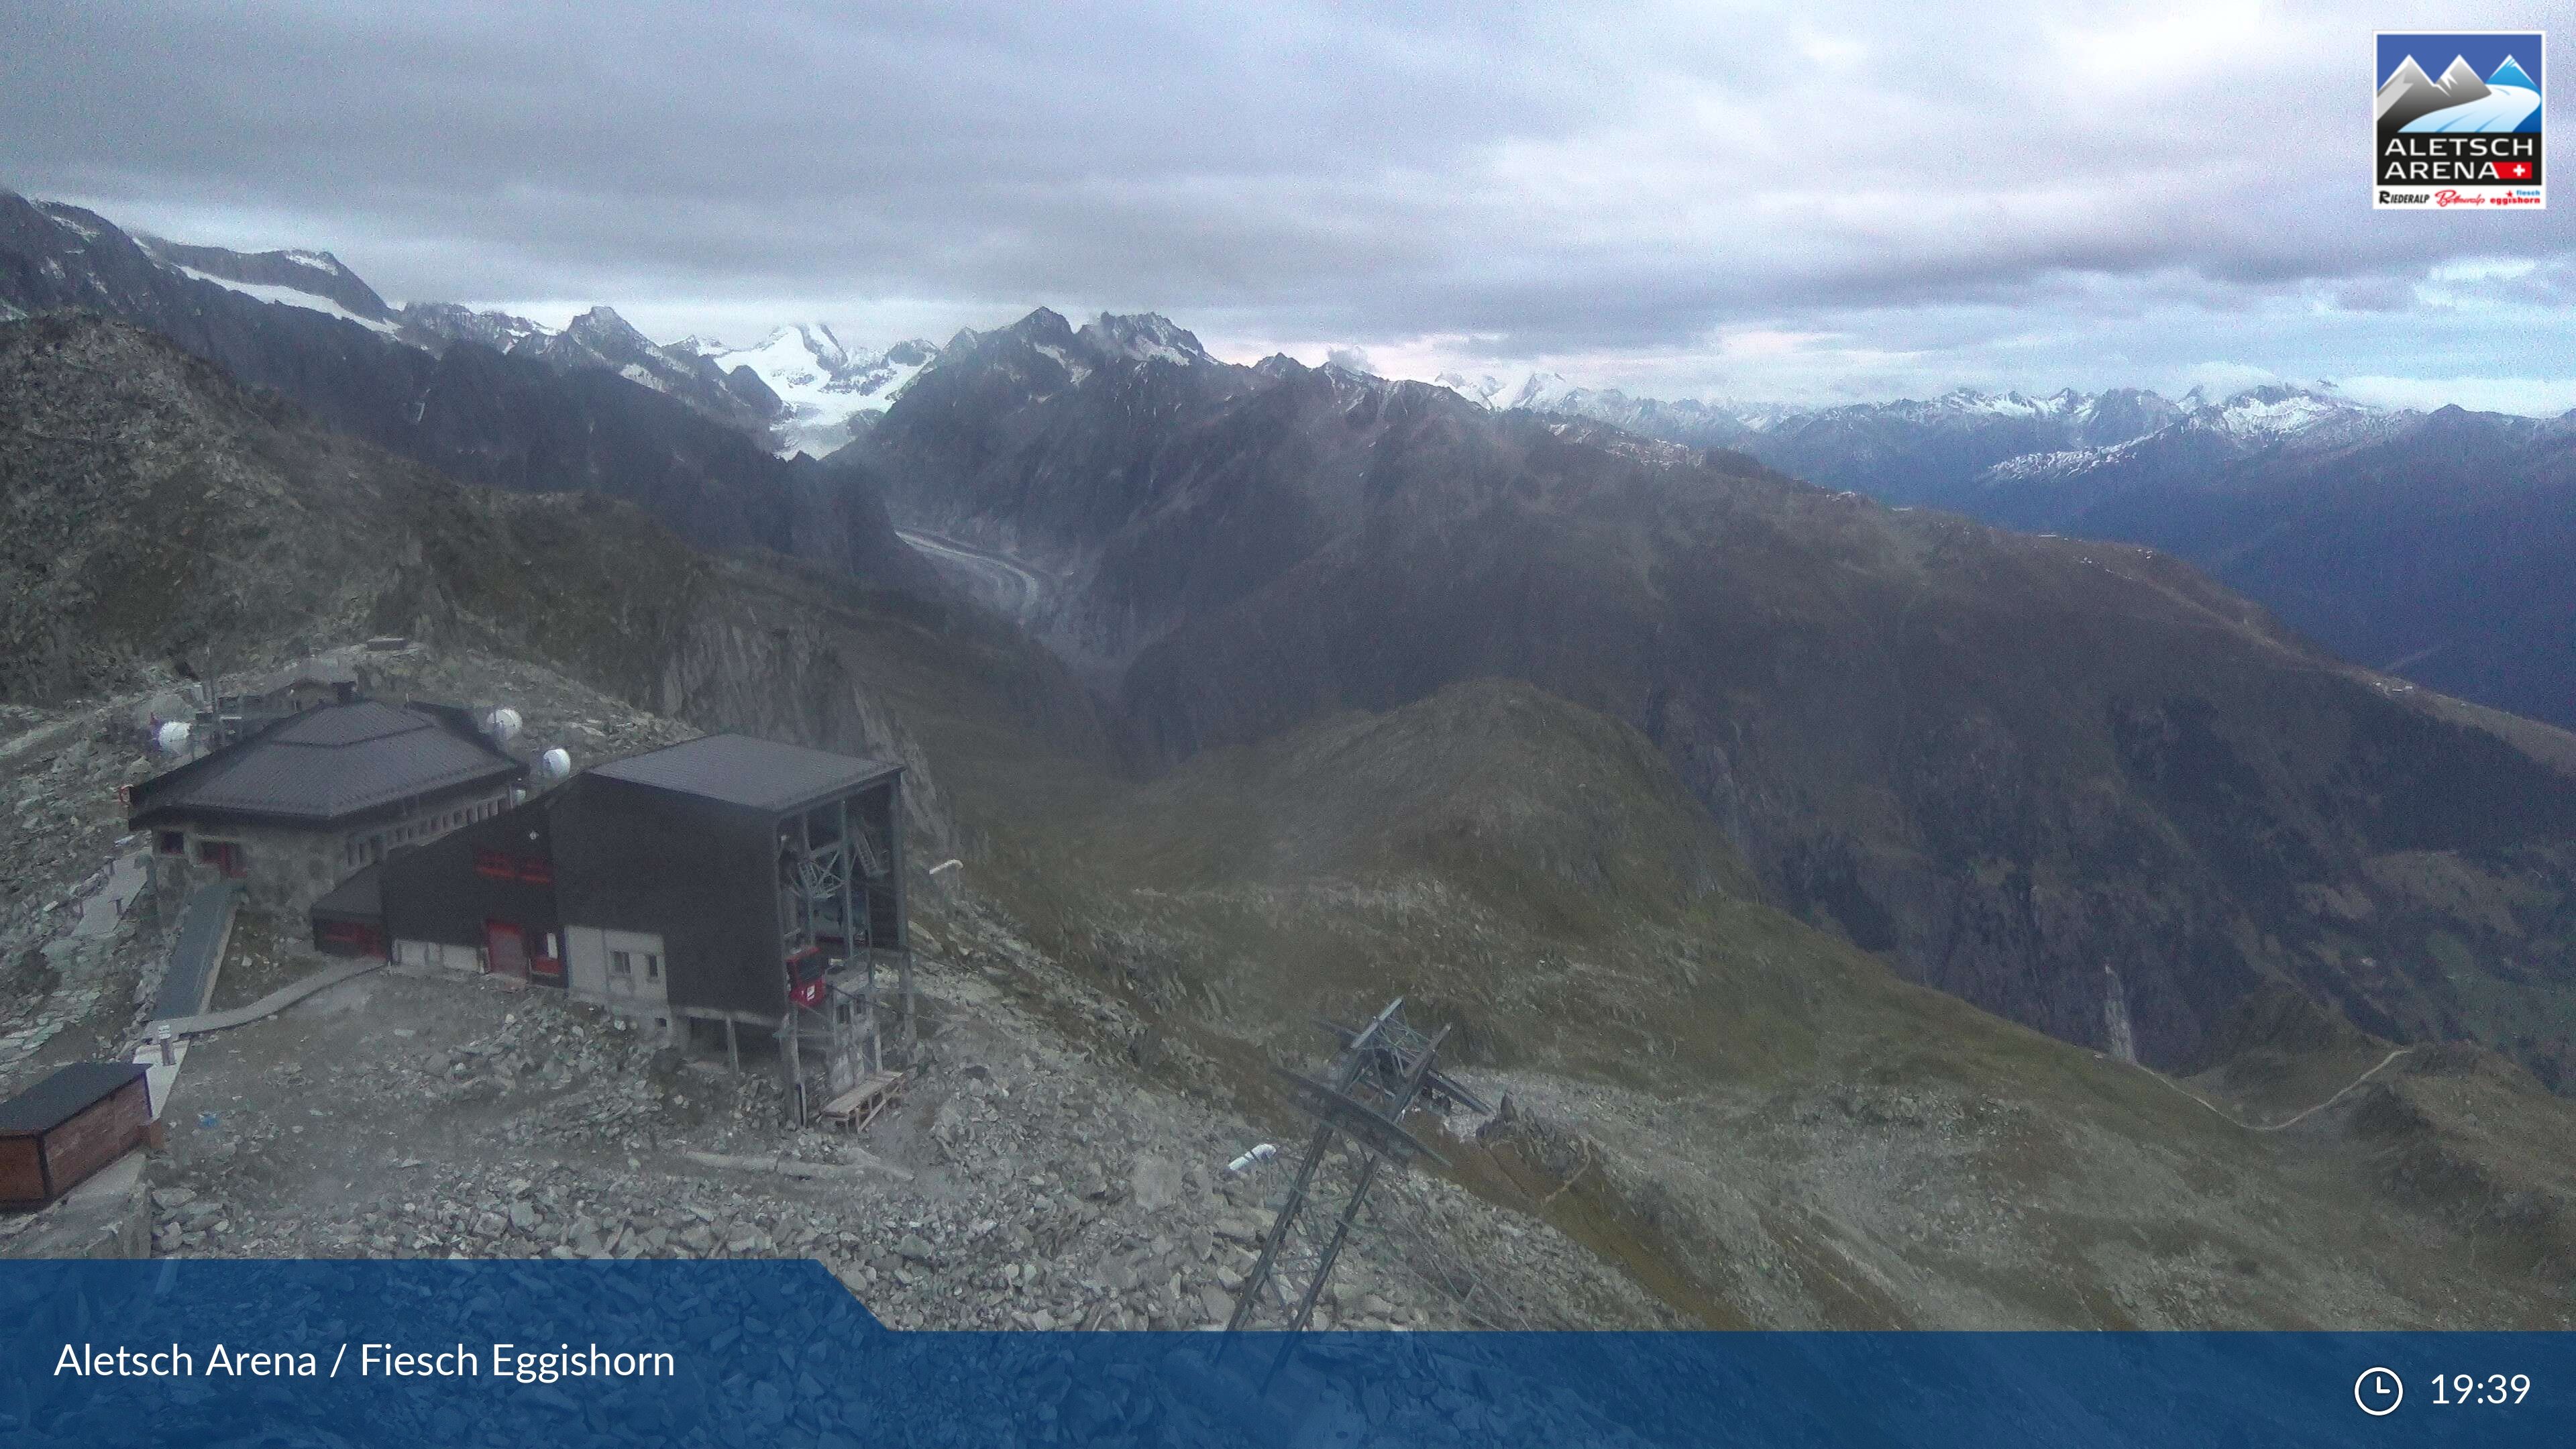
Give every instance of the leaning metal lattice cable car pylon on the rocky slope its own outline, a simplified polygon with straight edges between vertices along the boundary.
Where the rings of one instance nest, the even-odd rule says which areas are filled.
[[[1342,1052],[1321,1078],[1280,1073],[1298,1106],[1316,1119],[1316,1129],[1298,1160],[1296,1181],[1262,1238],[1262,1253],[1244,1276],[1234,1315],[1226,1320],[1229,1338],[1224,1343],[1247,1328],[1280,1328],[1291,1336],[1270,1361],[1270,1374],[1288,1364],[1296,1348],[1293,1336],[1314,1320],[1314,1305],[1360,1220],[1378,1168],[1417,1158],[1440,1160],[1404,1129],[1404,1114],[1414,1109],[1425,1085],[1437,1080],[1437,1096],[1476,1104],[1473,1093],[1432,1070],[1448,1026],[1430,1036],[1414,1031],[1404,1021],[1401,995],[1386,1003],[1386,1011],[1368,1026],[1334,1031],[1342,1034]],[[1340,1168],[1332,1168],[1329,1160],[1337,1160]],[[1319,1178],[1327,1181],[1319,1183]],[[1329,1214],[1329,1227],[1311,1212],[1316,1201],[1337,1207]],[[1270,1323],[1262,1323],[1265,1318]],[[1218,1356],[1224,1356],[1224,1343]]]

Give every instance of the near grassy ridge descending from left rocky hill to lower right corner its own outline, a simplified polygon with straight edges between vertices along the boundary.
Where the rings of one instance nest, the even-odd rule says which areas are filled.
[[[33,407],[85,366],[139,392]],[[992,619],[693,554],[603,500],[453,487],[100,320],[0,327],[0,379],[28,400],[0,410],[21,418],[8,503],[80,513],[85,567],[157,559],[139,513],[173,508],[206,508],[214,575],[384,559],[319,614],[252,593],[204,637],[152,606],[90,647],[106,616],[57,603],[85,678],[149,681],[175,642],[247,660],[397,619],[698,727],[896,750],[976,897],[1188,1047],[1139,1052],[1159,1065],[1133,1091],[1244,1101],[1288,1132],[1262,1065],[1311,1055],[1303,1013],[1409,993],[1512,1098],[1453,1119],[1455,1173],[1705,1323],[2566,1318],[2568,1106],[2512,1067],[2424,1052],[2251,1132],[2228,1114],[2306,1106],[2378,1044],[2293,993],[2228,1021],[2244,1065],[2195,1101],[1906,985],[1765,905],[1667,748],[1530,683],[1461,678],[1136,784],[1064,670]],[[75,420],[113,446],[28,436]],[[10,598],[52,598],[41,562],[10,554]]]

